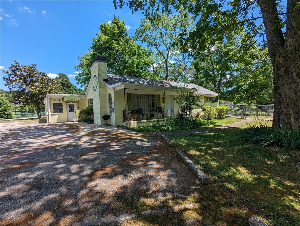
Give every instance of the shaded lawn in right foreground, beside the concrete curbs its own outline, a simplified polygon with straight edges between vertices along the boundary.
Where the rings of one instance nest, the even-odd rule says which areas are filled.
[[[299,225],[300,171],[296,165],[300,151],[260,148],[242,141],[243,127],[247,125],[213,133],[168,135],[211,178],[211,184],[201,189],[201,206],[194,214],[208,225],[248,225],[253,215],[267,225]]]

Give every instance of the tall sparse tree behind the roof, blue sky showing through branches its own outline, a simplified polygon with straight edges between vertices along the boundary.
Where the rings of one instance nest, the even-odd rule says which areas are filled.
[[[152,50],[152,71],[158,78],[186,81],[190,77],[192,57],[188,47],[180,49],[178,37],[183,30],[189,30],[192,23],[192,18],[183,11],[172,16],[156,13],[141,20],[134,38]]]

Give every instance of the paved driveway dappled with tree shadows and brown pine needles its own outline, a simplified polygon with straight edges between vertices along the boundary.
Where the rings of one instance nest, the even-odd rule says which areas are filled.
[[[115,131],[2,123],[1,226],[197,224],[181,209],[199,184],[174,149]]]

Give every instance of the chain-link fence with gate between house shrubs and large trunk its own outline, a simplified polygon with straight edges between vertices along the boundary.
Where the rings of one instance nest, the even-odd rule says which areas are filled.
[[[226,106],[229,107],[228,110],[229,117],[253,119],[253,120],[273,120],[274,104],[270,104],[270,105],[226,104]]]

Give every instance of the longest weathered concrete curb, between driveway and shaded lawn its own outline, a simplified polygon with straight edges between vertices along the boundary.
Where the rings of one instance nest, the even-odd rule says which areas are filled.
[[[179,149],[176,149],[175,151],[178,157],[183,161],[184,165],[193,173],[193,175],[196,176],[201,184],[208,185],[210,182],[208,176],[206,176],[205,173],[203,173],[195,163],[193,163],[185,154],[183,154],[182,151],[180,151]]]

